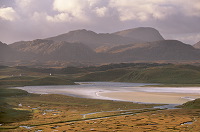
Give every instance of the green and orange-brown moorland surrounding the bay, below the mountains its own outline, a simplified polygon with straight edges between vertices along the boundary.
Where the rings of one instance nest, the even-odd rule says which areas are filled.
[[[181,109],[158,110],[150,109],[156,104],[38,95],[9,88],[75,81],[200,86],[200,67],[145,63],[56,69],[1,66],[0,131],[200,131],[199,99]]]

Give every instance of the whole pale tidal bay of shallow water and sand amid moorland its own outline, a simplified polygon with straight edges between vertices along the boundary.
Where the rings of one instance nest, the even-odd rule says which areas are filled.
[[[91,99],[159,104],[183,104],[200,98],[200,87],[150,87],[145,85],[147,84],[82,82],[80,85],[25,86],[18,87],[18,89],[37,94],[64,94]]]

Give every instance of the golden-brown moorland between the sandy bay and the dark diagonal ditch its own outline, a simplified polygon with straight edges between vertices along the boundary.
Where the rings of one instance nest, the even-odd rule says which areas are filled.
[[[41,127],[63,122],[125,115],[126,112],[130,114],[130,112],[156,110],[147,109],[156,106],[155,104],[29,94],[23,90],[8,89],[2,86],[0,93],[0,124],[2,124],[0,131],[21,132],[28,130],[23,126]],[[142,110],[143,108],[146,109]]]

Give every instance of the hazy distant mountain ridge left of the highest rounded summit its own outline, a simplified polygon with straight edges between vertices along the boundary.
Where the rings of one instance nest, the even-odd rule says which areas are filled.
[[[128,44],[131,42],[141,42],[141,40],[127,38],[109,33],[95,33],[90,30],[74,30],[58,36],[46,38],[46,40],[53,41],[67,41],[70,43],[81,42],[91,47],[92,49],[101,46],[112,46],[116,44]]]

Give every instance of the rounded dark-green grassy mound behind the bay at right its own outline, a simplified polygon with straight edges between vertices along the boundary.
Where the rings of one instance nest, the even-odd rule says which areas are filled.
[[[200,72],[178,66],[151,67],[134,70],[116,81],[164,84],[200,84]]]

